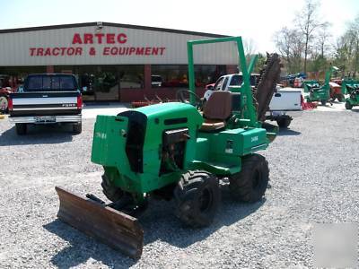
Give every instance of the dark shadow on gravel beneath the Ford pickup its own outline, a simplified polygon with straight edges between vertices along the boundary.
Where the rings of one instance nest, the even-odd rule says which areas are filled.
[[[71,142],[74,135],[72,130],[71,125],[30,125],[27,134],[18,135],[13,126],[0,134],[0,146]]]

